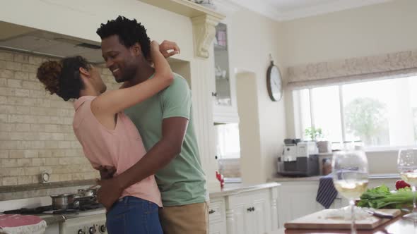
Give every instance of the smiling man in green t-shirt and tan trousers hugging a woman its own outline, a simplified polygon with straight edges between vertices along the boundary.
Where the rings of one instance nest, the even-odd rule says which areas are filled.
[[[152,78],[154,69],[147,60],[150,39],[143,25],[119,16],[102,24],[97,33],[106,66],[117,82],[124,82],[122,87]],[[142,54],[129,54],[129,48],[138,44]],[[125,113],[138,128],[147,153],[124,173],[100,180],[99,201],[110,209],[124,189],[155,174],[164,205],[160,210],[164,233],[208,233],[208,193],[187,81],[175,74],[170,87]]]

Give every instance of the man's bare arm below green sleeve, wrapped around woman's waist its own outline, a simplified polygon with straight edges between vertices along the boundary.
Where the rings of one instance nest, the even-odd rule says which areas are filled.
[[[119,199],[123,190],[130,185],[155,174],[160,168],[165,167],[181,152],[184,135],[187,131],[188,119],[184,117],[164,118],[162,123],[162,138],[157,142],[141,160],[127,171],[111,178],[100,180],[98,200],[107,210]]]

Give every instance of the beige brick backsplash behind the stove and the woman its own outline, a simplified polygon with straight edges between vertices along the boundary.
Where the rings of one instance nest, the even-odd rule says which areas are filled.
[[[0,185],[98,178],[72,129],[74,107],[45,91],[36,78],[40,63],[54,58],[0,50]],[[107,89],[119,87],[102,66]],[[1,190],[1,188],[0,188]]]

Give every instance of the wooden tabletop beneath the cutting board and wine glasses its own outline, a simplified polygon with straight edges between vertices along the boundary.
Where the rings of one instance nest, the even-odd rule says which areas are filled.
[[[351,230],[307,230],[307,229],[285,229],[270,234],[313,234],[313,233],[351,233]],[[394,218],[392,221],[383,224],[374,230],[358,230],[358,234],[417,234],[417,222],[410,221],[401,217]]]

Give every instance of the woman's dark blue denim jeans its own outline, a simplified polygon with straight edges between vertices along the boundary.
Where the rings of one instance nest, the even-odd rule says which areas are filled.
[[[159,207],[138,197],[123,197],[113,204],[106,214],[107,232],[110,234],[163,234]]]

